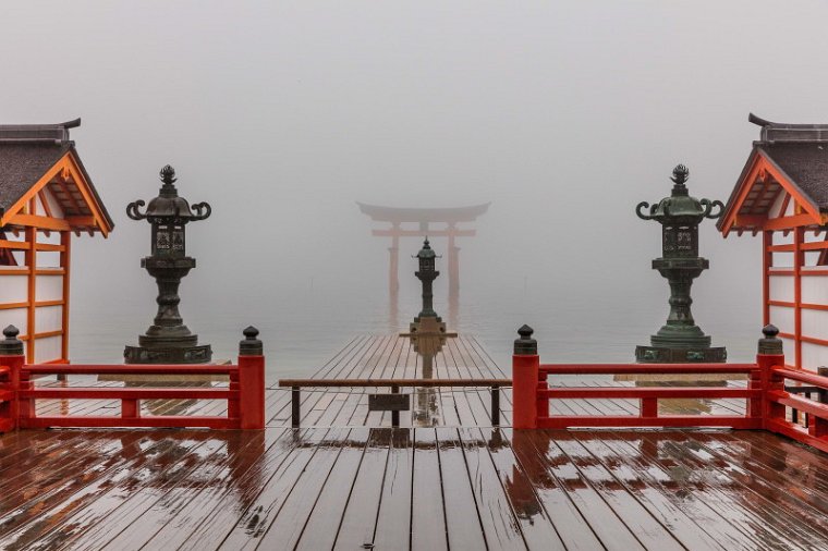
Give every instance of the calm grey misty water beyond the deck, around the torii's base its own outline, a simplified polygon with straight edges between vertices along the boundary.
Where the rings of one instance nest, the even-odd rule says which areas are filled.
[[[206,299],[186,294],[185,280],[181,310],[199,342],[212,345],[214,357],[234,358],[241,330],[254,325],[265,343],[269,377],[304,376],[358,334],[407,328],[419,309],[419,290],[402,276],[397,307],[386,289],[342,292],[308,283],[304,289],[217,290]],[[575,293],[553,284],[487,287],[467,280],[453,307],[438,285],[435,308],[450,329],[479,338],[501,367],[510,365],[512,341],[523,323],[535,329],[546,362],[632,362],[635,345],[648,343],[668,311],[667,284],[658,279],[646,301],[613,289]],[[145,291],[107,302],[75,299],[72,360],[121,363],[124,344],[137,343],[155,315],[153,286]],[[704,296],[704,289],[701,294],[694,315],[714,345],[726,345],[732,362],[751,360],[759,336],[758,304],[722,307],[721,301]]]

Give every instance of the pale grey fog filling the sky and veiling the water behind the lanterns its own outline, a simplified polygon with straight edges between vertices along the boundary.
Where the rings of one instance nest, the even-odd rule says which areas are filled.
[[[149,226],[124,207],[170,163],[214,210],[187,228],[182,314],[218,356],[254,323],[291,372],[418,311],[418,241],[389,319],[389,243],[355,201],[490,201],[459,240],[460,329],[498,362],[524,322],[541,351],[631,360],[668,309],[635,205],[679,162],[727,200],[750,111],[828,122],[826,21],[818,1],[3,2],[0,122],[82,117],[115,221],[73,245],[73,359],[118,359],[151,321]],[[759,246],[702,224],[694,315],[734,359],[759,336]]]

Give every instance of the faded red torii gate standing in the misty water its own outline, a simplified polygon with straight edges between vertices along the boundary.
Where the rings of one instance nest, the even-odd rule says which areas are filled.
[[[473,222],[484,215],[490,203],[458,208],[395,208],[380,207],[356,203],[360,210],[377,222],[390,222],[391,228],[372,230],[372,235],[391,237],[388,266],[388,290],[395,294],[400,289],[400,237],[448,237],[449,261],[449,295],[460,291],[460,247],[454,244],[455,237],[473,237],[475,230],[458,228],[460,222]],[[417,224],[416,228],[404,228],[403,224]],[[431,224],[446,224],[443,228],[433,228]]]

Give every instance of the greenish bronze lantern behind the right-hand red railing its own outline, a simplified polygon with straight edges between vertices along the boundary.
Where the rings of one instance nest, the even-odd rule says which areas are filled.
[[[653,260],[670,283],[670,314],[667,323],[650,336],[649,346],[636,346],[635,360],[640,363],[724,362],[724,347],[710,347],[710,336],[705,335],[693,320],[690,305],[690,287],[709,261],[698,256],[698,224],[705,218],[721,216],[723,205],[719,200],[691,197],[685,182],[690,171],[683,164],[673,169],[672,194],[657,205],[642,201],[635,213],[642,220],[655,220],[661,224],[661,258]],[[649,213],[642,209],[649,207]],[[716,213],[713,209],[719,207]]]

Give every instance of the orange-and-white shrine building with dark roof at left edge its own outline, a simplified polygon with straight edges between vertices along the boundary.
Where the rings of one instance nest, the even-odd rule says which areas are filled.
[[[0,125],[0,328],[29,363],[69,362],[72,234],[114,225],[69,138],[80,125]]]

